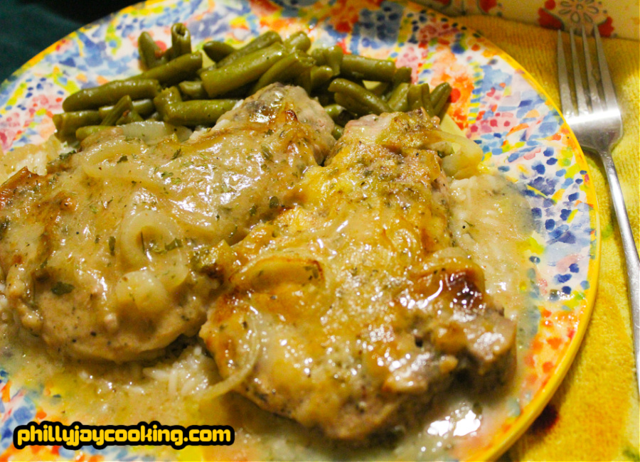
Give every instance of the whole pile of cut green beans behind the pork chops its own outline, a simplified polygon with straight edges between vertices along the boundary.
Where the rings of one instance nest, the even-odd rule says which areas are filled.
[[[302,31],[284,40],[268,31],[241,48],[208,41],[201,52],[192,50],[188,28],[176,23],[164,52],[147,32],[139,36],[138,48],[144,72],[64,100],[65,112],[53,117],[60,138],[81,141],[107,127],[144,120],[213,126],[238,100],[273,82],[303,87],[334,119],[339,137],[349,120],[367,114],[423,108],[442,118],[452,90],[447,82],[434,89],[414,85],[411,69],[391,60],[346,54],[338,45],[311,49]],[[206,67],[203,53],[210,61]]]

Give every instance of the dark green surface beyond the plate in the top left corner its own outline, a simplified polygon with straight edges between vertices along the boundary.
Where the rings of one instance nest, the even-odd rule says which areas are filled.
[[[52,43],[134,0],[0,0],[0,82]]]

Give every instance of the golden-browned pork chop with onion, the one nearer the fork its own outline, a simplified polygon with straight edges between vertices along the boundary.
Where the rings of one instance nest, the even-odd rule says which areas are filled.
[[[363,441],[459,371],[506,375],[515,326],[452,247],[440,138],[421,112],[351,122],[297,205],[234,246],[201,337],[223,377],[247,372],[236,391]]]

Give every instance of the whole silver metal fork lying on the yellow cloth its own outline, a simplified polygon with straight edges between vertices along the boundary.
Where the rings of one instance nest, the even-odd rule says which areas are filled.
[[[558,31],[558,82],[560,84],[560,102],[565,119],[580,146],[587,151],[599,154],[602,159],[604,171],[607,173],[609,190],[618,218],[622,247],[626,259],[626,274],[629,282],[629,302],[631,303],[631,322],[634,335],[634,355],[636,359],[636,379],[640,393],[640,261],[638,251],[634,243],[634,235],[629,225],[629,215],[626,214],[624,198],[620,189],[620,182],[616,172],[616,166],[611,156],[611,149],[622,136],[622,117],[616,100],[614,87],[607,66],[607,59],[602,50],[602,40],[598,28],[593,28],[595,38],[597,60],[599,66],[599,82],[594,75],[589,53],[589,43],[585,27],[582,26],[582,45],[584,54],[585,71],[587,75],[587,89],[582,85],[580,72],[580,59],[575,45],[573,31],[569,32],[571,44],[571,60],[573,68],[573,81],[577,109],[571,97],[571,87],[567,75],[567,63],[565,49],[562,45],[562,33]]]

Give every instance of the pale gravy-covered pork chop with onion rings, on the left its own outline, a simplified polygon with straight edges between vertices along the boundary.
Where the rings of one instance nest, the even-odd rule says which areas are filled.
[[[272,85],[209,131],[154,146],[102,131],[0,190],[0,266],[22,325],[117,362],[194,335],[220,285],[210,252],[273,217],[334,139],[299,87]]]

